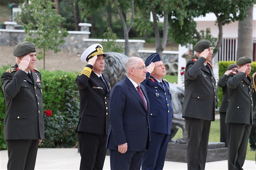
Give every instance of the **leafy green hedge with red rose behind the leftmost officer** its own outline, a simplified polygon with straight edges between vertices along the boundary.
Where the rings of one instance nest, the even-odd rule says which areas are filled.
[[[0,68],[0,74],[10,66]],[[76,126],[79,121],[79,92],[77,73],[40,70],[43,85],[45,140],[40,147],[77,147]],[[3,138],[3,120],[6,105],[0,85],[0,149],[6,149]]]

